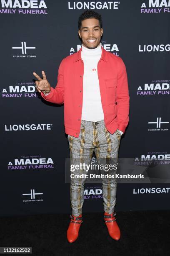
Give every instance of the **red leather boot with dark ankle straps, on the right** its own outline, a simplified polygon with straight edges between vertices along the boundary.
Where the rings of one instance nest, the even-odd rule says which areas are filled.
[[[105,221],[105,224],[107,226],[107,229],[109,231],[109,235],[111,236],[111,238],[113,238],[115,240],[119,240],[120,239],[120,229],[116,222],[116,213],[108,214],[107,212],[105,212],[104,221]]]

